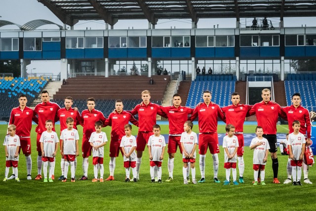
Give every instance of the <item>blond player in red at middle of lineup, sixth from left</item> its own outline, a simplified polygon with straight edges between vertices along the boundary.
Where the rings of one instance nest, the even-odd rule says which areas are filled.
[[[139,179],[139,169],[142,161],[143,152],[147,145],[149,136],[153,135],[153,126],[156,125],[157,114],[166,117],[161,111],[160,106],[150,102],[150,92],[148,90],[142,91],[143,102],[136,105],[135,108],[130,112],[133,116],[138,114],[139,129],[136,138],[137,142],[137,160],[136,160],[136,171],[137,179]]]

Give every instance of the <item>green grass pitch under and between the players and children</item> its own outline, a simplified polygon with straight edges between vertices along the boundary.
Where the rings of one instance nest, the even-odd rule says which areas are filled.
[[[278,152],[279,160],[279,180],[281,184],[273,184],[273,171],[271,158],[268,159],[266,167],[266,186],[253,186],[252,154],[249,147],[245,147],[244,162],[244,184],[224,186],[225,169],[224,150],[221,148],[219,154],[218,178],[221,184],[212,181],[213,162],[211,155],[206,154],[205,177],[206,183],[203,184],[183,184],[182,158],[178,152],[175,156],[174,181],[167,183],[151,183],[149,172],[148,150],[143,154],[142,166],[140,171],[140,181],[138,183],[125,183],[125,169],[123,168],[122,157],[119,156],[116,162],[115,181],[105,181],[104,183],[92,183],[93,166],[92,157],[89,158],[89,170],[87,181],[60,182],[57,178],[61,174],[60,159],[56,157],[55,175],[53,183],[43,183],[34,180],[37,174],[37,152],[36,152],[36,133],[35,126],[32,129],[32,177],[33,180],[26,180],[25,157],[20,154],[19,178],[21,182],[9,180],[0,181],[0,210],[2,211],[38,211],[38,210],[315,210],[316,194],[316,175],[315,167],[310,168],[309,177],[314,184],[303,183],[302,187],[284,185],[286,179],[287,156],[281,156]],[[59,126],[57,134],[59,134]],[[245,133],[253,133],[255,126],[245,126]],[[286,133],[287,126],[278,126],[278,132]],[[110,140],[111,127],[103,128]],[[197,132],[197,126],[194,127]],[[224,133],[224,126],[219,126],[219,133]],[[6,126],[0,126],[0,139],[4,140]],[[133,135],[137,134],[137,127],[133,127]],[[168,126],[161,126],[161,134],[168,133]],[[82,127],[79,127],[79,135],[82,137]],[[79,144],[81,145],[80,141]],[[79,146],[81,149],[81,146]],[[105,146],[106,155],[109,152],[109,144]],[[162,162],[162,180],[168,177],[167,169],[168,154],[164,154]],[[82,158],[78,157],[78,167],[76,176],[82,175]],[[109,175],[109,157],[105,156],[104,177]],[[4,178],[5,156],[4,147],[0,150],[0,178]],[[198,166],[198,153],[196,165],[196,177],[200,178]],[[10,169],[9,175],[12,170]],[[70,173],[70,170],[69,170]],[[302,173],[303,174],[303,173]],[[132,175],[132,174],[131,174]],[[191,175],[190,175],[191,177]],[[238,178],[238,170],[237,170]],[[303,179],[303,175],[302,175]],[[2,179],[1,179],[2,180]]]

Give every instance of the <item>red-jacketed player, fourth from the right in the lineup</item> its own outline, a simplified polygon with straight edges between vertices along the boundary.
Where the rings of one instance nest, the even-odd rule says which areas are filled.
[[[217,135],[217,118],[225,122],[225,116],[220,107],[211,102],[212,95],[211,92],[206,90],[203,92],[204,103],[198,105],[189,118],[190,121],[194,121],[198,116],[198,153],[199,153],[199,169],[201,171],[201,179],[198,183],[205,182],[205,154],[207,152],[207,147],[213,157],[213,167],[214,167],[214,182],[220,183],[217,179],[218,173],[218,135]]]

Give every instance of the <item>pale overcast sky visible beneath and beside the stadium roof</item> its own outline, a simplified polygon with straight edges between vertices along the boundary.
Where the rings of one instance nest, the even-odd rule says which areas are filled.
[[[63,25],[63,23],[42,3],[37,0],[0,0],[0,20],[7,20],[19,25],[23,25],[28,21],[36,20],[36,19],[45,19],[57,23],[59,25]],[[259,17],[260,18],[260,17]],[[278,25],[279,18],[269,18],[274,25]],[[241,24],[247,25],[251,23],[251,18],[243,18],[240,19]],[[236,19],[199,19],[197,23],[197,28],[213,28],[214,25],[219,28],[234,28],[236,27]],[[308,18],[284,18],[284,27],[301,27],[307,25],[308,27],[316,27],[316,17],[308,17]],[[172,28],[191,28],[191,20],[190,19],[162,19],[158,21],[156,25],[156,29],[170,29]],[[120,20],[117,24],[114,25],[114,29],[147,29],[148,21],[147,20]],[[96,21],[79,21],[74,26],[75,30],[79,29],[105,29],[105,23],[102,20]],[[4,26],[1,27],[0,30],[11,30],[18,29],[16,26]],[[44,25],[39,29],[58,29],[57,26],[54,25]],[[33,72],[40,72],[42,62],[33,62],[28,66],[28,69],[37,68],[33,70]],[[56,70],[59,67],[59,62],[50,62],[49,67],[51,69],[46,69],[47,71]]]

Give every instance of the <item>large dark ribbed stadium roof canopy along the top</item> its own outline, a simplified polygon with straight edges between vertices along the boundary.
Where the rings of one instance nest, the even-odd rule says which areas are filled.
[[[121,19],[245,18],[316,16],[316,0],[38,0],[63,23]]]

